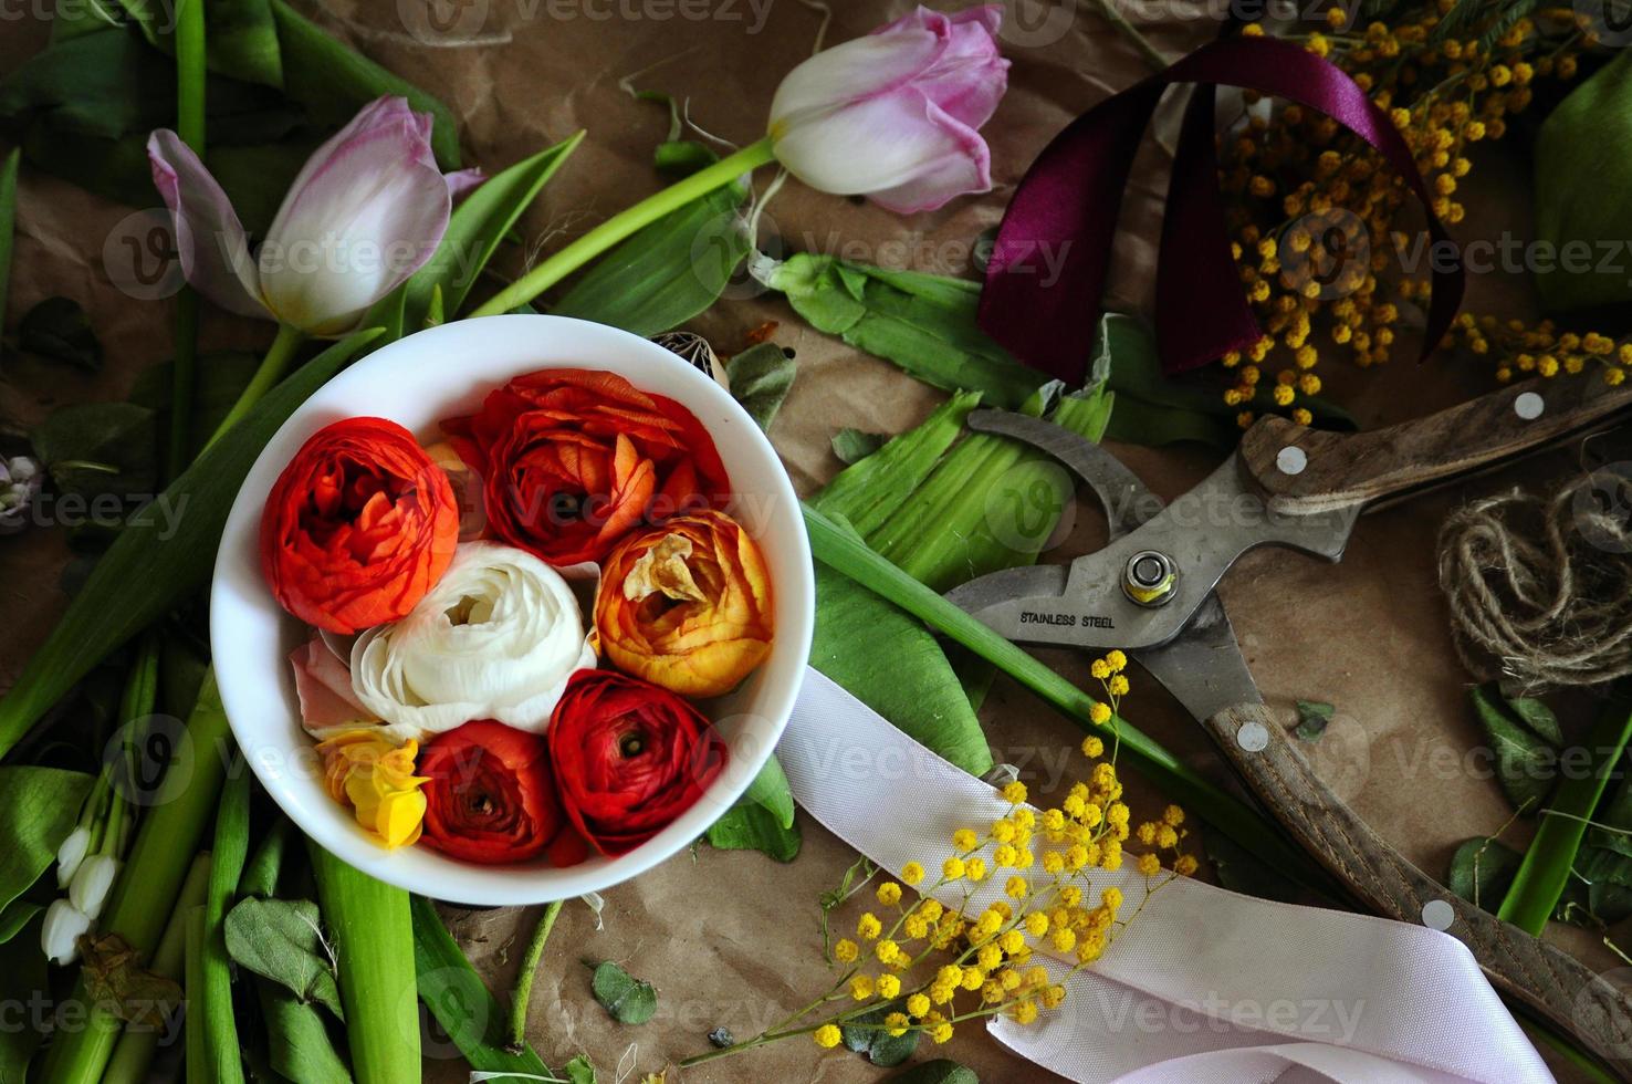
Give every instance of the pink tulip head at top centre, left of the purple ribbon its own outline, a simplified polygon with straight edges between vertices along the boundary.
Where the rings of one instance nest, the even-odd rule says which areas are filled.
[[[1002,7],[919,8],[788,72],[770,104],[777,160],[811,188],[901,214],[992,188],[979,127],[1009,87]]]

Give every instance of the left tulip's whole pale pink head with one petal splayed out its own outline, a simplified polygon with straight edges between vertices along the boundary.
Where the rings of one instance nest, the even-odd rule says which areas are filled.
[[[431,258],[452,196],[480,176],[442,176],[431,114],[380,98],[312,153],[251,256],[227,194],[181,137],[153,132],[147,157],[188,282],[222,309],[325,338],[354,330]]]

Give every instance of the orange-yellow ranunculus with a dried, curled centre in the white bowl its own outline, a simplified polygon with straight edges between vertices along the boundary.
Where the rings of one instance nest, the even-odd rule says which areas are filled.
[[[599,648],[689,697],[730,692],[770,651],[770,575],[743,524],[713,509],[625,539],[596,594]]]

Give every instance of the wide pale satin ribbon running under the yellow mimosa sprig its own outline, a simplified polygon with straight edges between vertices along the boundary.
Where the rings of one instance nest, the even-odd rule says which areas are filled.
[[[777,754],[798,803],[896,875],[914,860],[940,869],[955,829],[1007,810],[989,785],[814,669]],[[1121,886],[1126,913],[1144,896],[1129,869],[1100,877],[1097,888]],[[984,893],[996,898],[1002,880]],[[974,906],[984,903],[978,893]],[[987,1028],[1082,1084],[1554,1079],[1449,934],[1190,878],[1157,891],[1105,957],[1069,980],[1059,1009]]]

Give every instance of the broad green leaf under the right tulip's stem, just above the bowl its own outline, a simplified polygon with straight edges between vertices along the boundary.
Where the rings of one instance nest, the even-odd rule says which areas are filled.
[[[622,242],[550,312],[656,335],[713,305],[751,245],[739,222],[741,184],[716,188]]]

